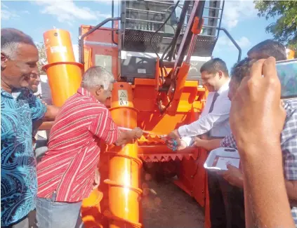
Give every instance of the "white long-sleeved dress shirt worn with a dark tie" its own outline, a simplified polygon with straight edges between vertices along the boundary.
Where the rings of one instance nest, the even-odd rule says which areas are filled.
[[[178,128],[180,137],[187,142],[187,145],[190,145],[191,137],[207,132],[210,133],[211,137],[225,137],[226,135],[230,135],[229,114],[231,101],[228,98],[229,82],[230,80],[217,91],[218,98],[214,102],[211,113],[209,113],[209,109],[215,92],[211,92],[207,96],[205,107],[197,121]]]

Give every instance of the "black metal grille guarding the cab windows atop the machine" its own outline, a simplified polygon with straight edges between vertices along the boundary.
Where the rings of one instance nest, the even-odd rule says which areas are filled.
[[[197,56],[211,56],[213,48],[216,45],[218,39],[218,27],[221,20],[220,1],[208,1],[208,5],[204,7],[204,30],[199,39],[197,39],[196,47],[194,49],[194,55]],[[187,17],[185,20],[185,27],[187,26],[187,20],[190,18],[192,11],[192,5],[194,1],[191,1],[190,7],[187,11]],[[123,43],[122,50],[124,51],[138,51],[138,52],[157,52],[161,53],[169,45],[173,38],[175,28],[178,22],[176,13],[173,13],[171,20],[159,30],[154,33],[161,24],[166,20],[169,14],[172,12],[174,1],[153,1],[153,0],[136,0],[136,1],[122,1],[122,27]],[[178,6],[181,8],[182,5]],[[152,38],[152,45],[150,39]],[[182,36],[178,39],[177,50],[182,40]]]

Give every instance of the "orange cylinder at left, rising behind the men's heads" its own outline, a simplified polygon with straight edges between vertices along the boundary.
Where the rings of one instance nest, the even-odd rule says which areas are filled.
[[[44,43],[48,64],[43,69],[48,75],[53,105],[60,107],[77,92],[84,66],[75,62],[69,32],[48,30],[44,33]]]

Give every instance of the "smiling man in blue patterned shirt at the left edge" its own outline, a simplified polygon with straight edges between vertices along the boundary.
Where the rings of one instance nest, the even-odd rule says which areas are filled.
[[[39,77],[38,60],[30,36],[1,29],[1,227],[29,227],[27,215],[36,207],[32,122],[56,114],[27,89]]]

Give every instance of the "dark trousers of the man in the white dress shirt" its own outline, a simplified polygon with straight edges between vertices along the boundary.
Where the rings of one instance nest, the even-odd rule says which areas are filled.
[[[208,172],[211,228],[244,228],[244,191]]]

